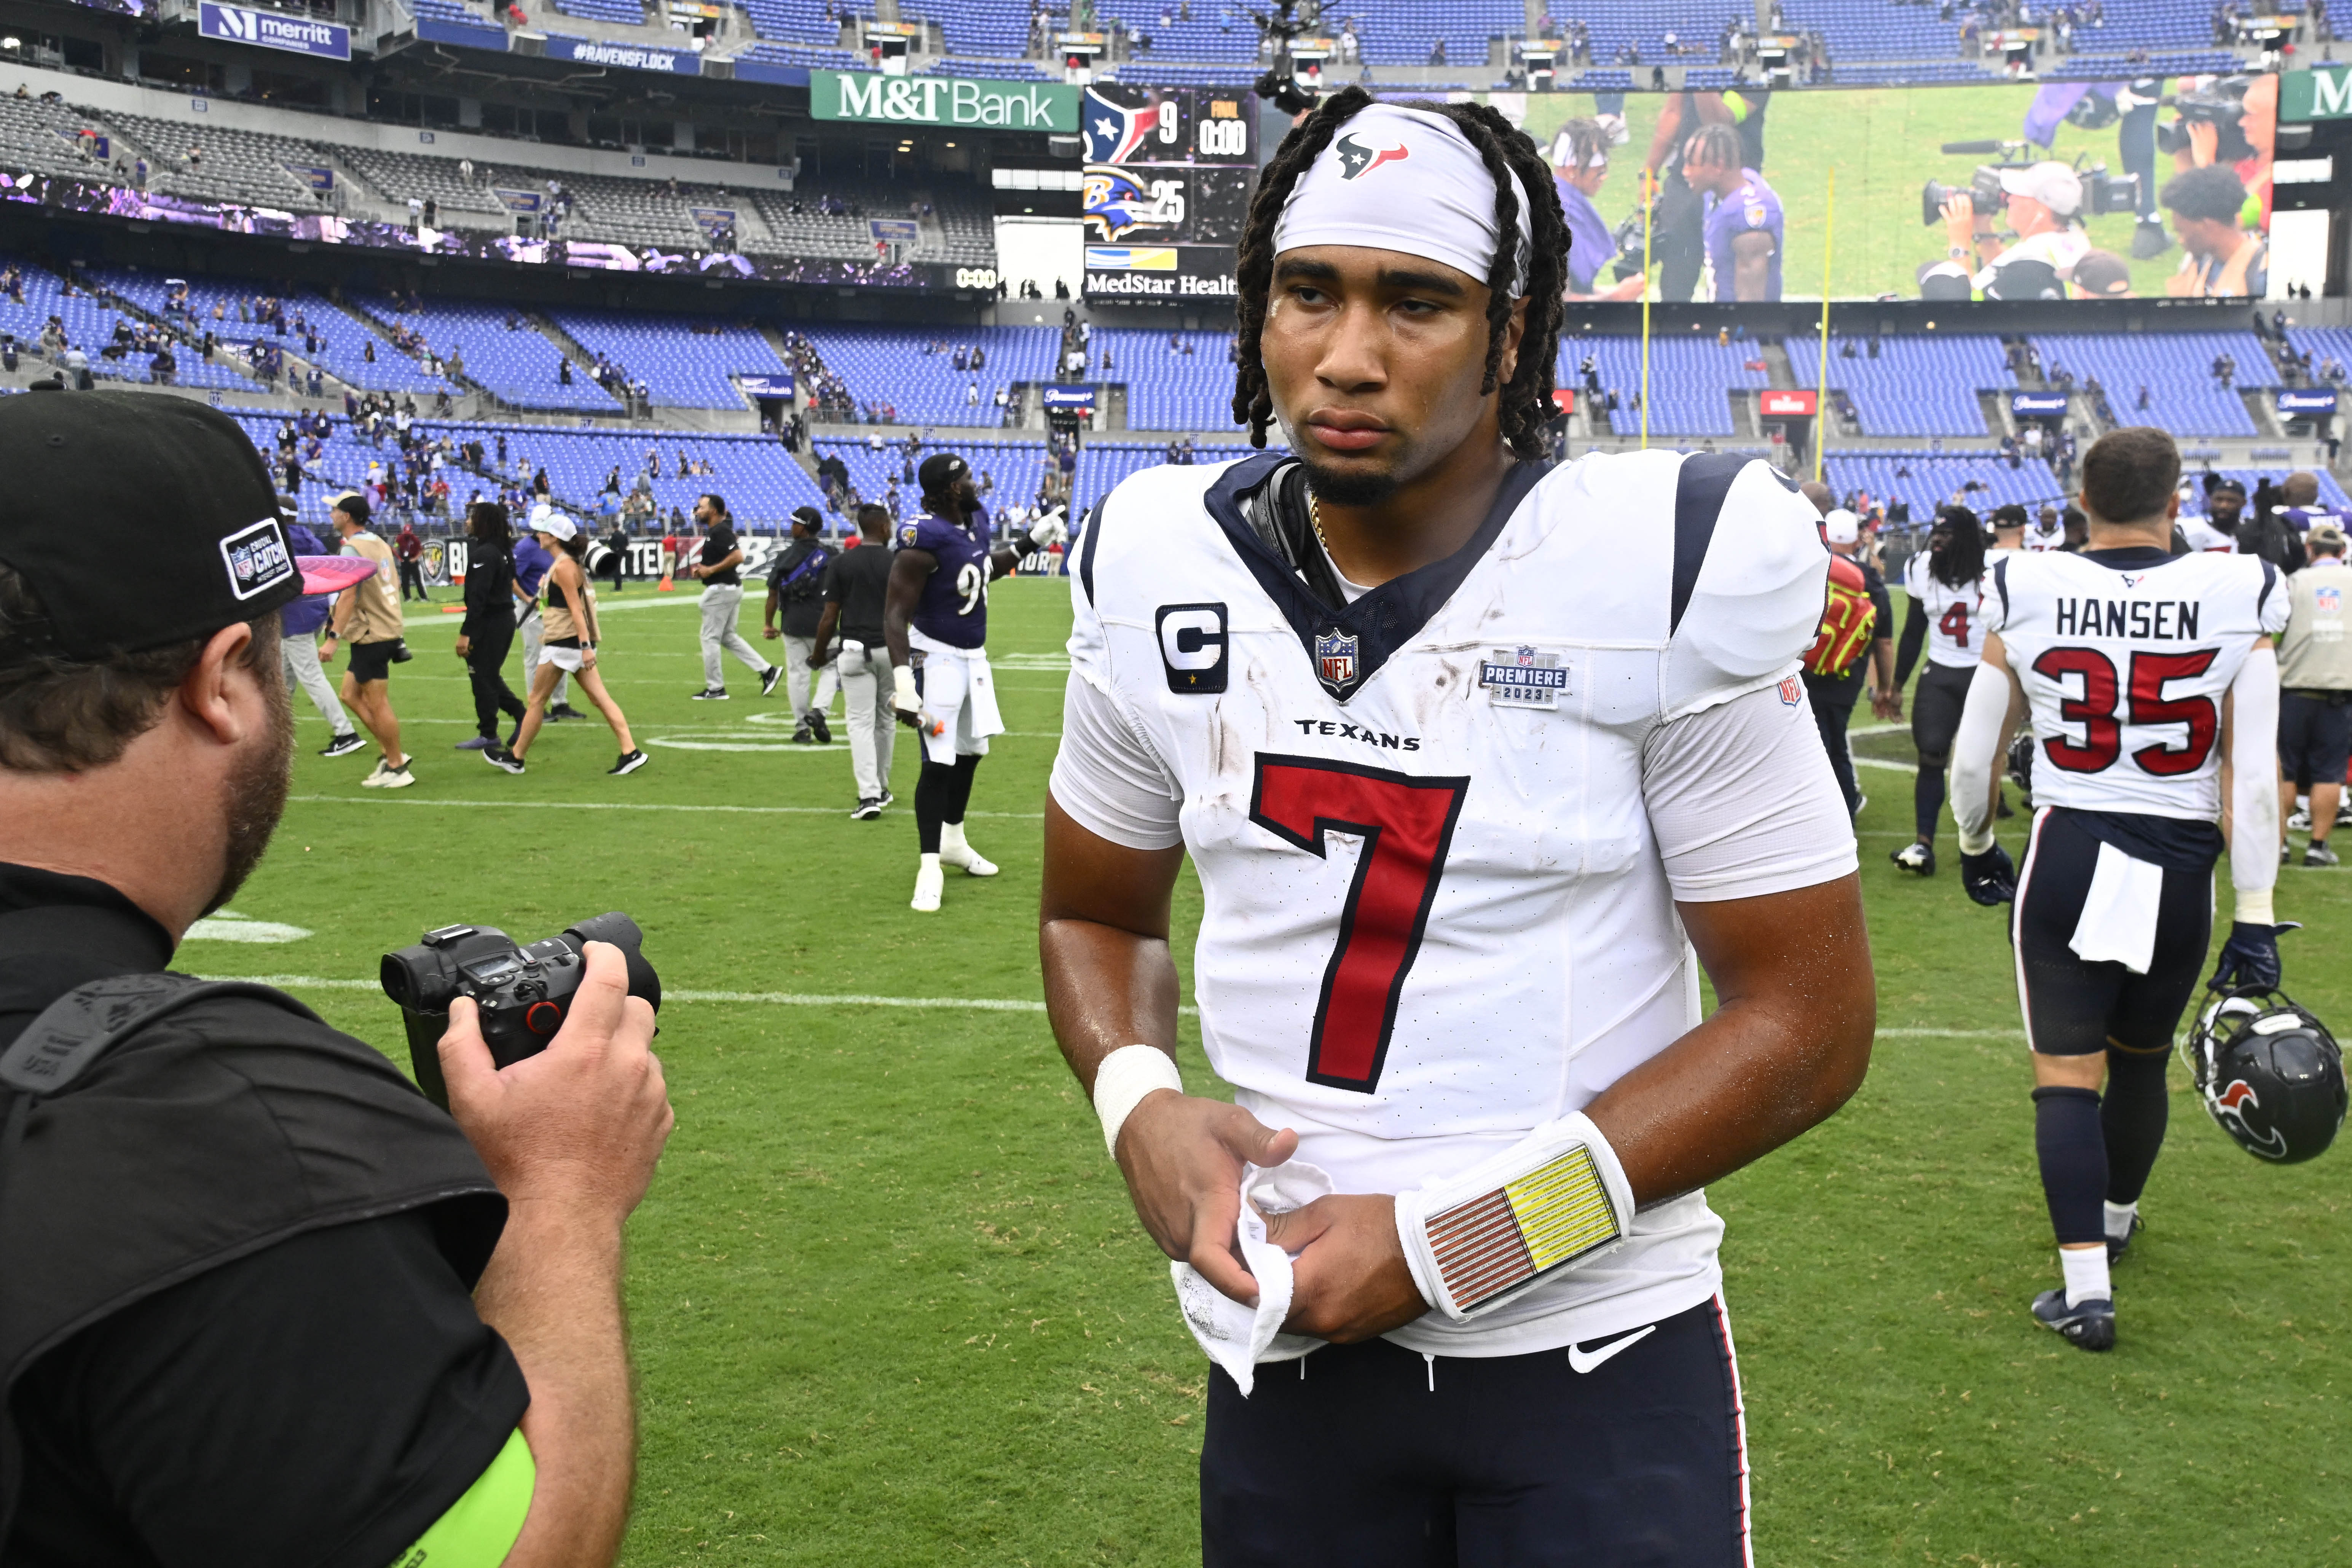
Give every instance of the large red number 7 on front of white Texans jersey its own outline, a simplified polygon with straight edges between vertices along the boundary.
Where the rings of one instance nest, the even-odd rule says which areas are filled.
[[[1437,903],[1468,778],[1414,778],[1319,757],[1258,755],[1249,820],[1310,856],[1327,832],[1364,837],[1338,912],[1308,1046],[1308,1081],[1371,1093],[1397,1027],[1397,997]]]

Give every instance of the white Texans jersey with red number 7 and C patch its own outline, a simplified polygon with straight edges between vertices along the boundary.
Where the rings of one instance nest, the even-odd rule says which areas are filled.
[[[1181,802],[1211,1067],[1338,1192],[1406,1192],[1700,1020],[1644,743],[1748,693],[1811,731],[1828,552],[1757,461],[1522,463],[1454,557],[1334,611],[1247,512],[1287,463],[1110,494],[1075,562],[1073,691],[1110,696]],[[1837,835],[1851,867],[1844,813]],[[1719,1234],[1693,1192],[1489,1316],[1390,1338],[1496,1356],[1621,1333],[1708,1300]]]

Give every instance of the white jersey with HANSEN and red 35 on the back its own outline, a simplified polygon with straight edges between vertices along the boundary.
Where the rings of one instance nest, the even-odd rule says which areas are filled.
[[[2009,557],[1987,574],[2034,729],[2034,804],[2220,820],[2220,705],[2288,592],[2258,555]]]

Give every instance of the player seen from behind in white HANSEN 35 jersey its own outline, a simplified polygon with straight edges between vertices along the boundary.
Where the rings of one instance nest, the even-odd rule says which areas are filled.
[[[1978,903],[2013,903],[2034,1150],[2065,1269],[2034,1319],[2084,1349],[2114,1345],[2107,1267],[2131,1246],[2164,1145],[2164,1060],[2204,966],[2225,820],[2237,910],[2209,985],[2277,985],[2291,929],[2272,922],[2270,646],[2288,590],[2253,555],[2169,552],[2178,475],[2169,435],[2112,430],[2082,461],[2089,550],[1992,564],[1952,759],[1962,879]],[[2034,825],[2016,872],[1990,823],[2013,703],[2034,733]]]

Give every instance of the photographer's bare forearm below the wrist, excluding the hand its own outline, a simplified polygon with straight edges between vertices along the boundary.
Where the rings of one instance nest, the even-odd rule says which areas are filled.
[[[612,1563],[637,1467],[621,1225],[546,1199],[517,1201],[475,1309],[515,1352],[532,1389],[522,1439],[539,1476],[506,1568]]]

